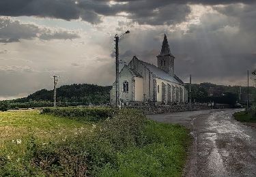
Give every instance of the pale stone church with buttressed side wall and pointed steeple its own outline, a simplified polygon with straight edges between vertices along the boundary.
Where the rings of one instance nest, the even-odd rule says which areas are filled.
[[[184,82],[175,75],[175,57],[171,54],[166,35],[156,59],[157,67],[134,56],[119,72],[119,99],[123,106],[134,103],[173,104],[188,101]],[[112,105],[116,104],[115,91],[114,83],[110,93]]]

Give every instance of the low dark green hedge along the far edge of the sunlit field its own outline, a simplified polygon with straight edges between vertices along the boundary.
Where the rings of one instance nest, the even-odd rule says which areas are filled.
[[[42,111],[43,114],[91,121],[112,118],[116,112],[114,108],[44,108]]]

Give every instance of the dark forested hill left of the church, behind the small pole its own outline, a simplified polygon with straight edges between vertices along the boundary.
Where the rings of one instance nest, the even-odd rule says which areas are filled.
[[[98,86],[94,84],[72,84],[57,88],[57,102],[80,102],[83,104],[109,103],[109,91],[112,86]],[[14,99],[13,102],[53,101],[53,90],[42,89],[27,97]]]

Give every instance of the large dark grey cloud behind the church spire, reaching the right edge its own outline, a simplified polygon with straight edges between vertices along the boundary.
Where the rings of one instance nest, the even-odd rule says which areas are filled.
[[[122,43],[120,56],[131,59],[136,54],[139,59],[156,65],[163,33],[167,33],[176,57],[178,76],[188,78],[193,74],[197,82],[240,82],[246,70],[256,66],[256,4],[214,8],[221,14],[203,14],[198,24],[188,25],[186,33],[179,29],[167,32],[161,28],[132,31],[129,39],[124,40],[125,44]],[[232,82],[226,78],[232,78]]]

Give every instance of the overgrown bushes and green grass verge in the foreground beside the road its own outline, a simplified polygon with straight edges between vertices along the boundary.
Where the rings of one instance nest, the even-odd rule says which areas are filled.
[[[182,176],[190,139],[184,127],[147,120],[137,110],[117,113],[62,141],[42,144],[31,135],[22,156],[0,154],[0,174]]]

